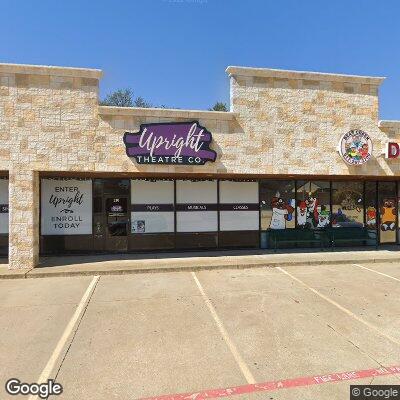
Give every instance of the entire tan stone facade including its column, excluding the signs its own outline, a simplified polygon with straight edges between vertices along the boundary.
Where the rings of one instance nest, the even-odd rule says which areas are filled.
[[[10,268],[38,260],[41,172],[246,175],[399,175],[383,149],[400,123],[378,121],[383,78],[228,67],[231,112],[98,105],[100,70],[0,64],[0,170],[10,176]],[[122,136],[141,123],[199,120],[215,163],[138,165]],[[348,166],[336,148],[362,129],[373,158]]]

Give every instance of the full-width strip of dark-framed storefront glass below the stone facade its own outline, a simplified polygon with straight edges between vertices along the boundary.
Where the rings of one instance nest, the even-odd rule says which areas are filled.
[[[330,226],[367,229],[360,244],[375,245],[377,237],[396,243],[397,190],[394,181],[43,177],[41,252],[270,248],[276,237],[293,237],[302,247]],[[1,254],[7,179],[0,179],[0,208]]]

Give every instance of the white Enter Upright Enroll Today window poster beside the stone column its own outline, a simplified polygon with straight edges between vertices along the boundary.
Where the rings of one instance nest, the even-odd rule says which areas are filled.
[[[41,234],[92,233],[92,181],[42,179]]]

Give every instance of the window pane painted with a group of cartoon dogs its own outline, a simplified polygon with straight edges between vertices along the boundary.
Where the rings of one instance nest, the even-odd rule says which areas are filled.
[[[330,224],[330,183],[297,181],[297,226],[305,229],[326,228]]]

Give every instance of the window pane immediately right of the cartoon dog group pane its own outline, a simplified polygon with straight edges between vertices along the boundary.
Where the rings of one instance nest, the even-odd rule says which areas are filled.
[[[332,182],[332,227],[364,226],[363,182]]]

